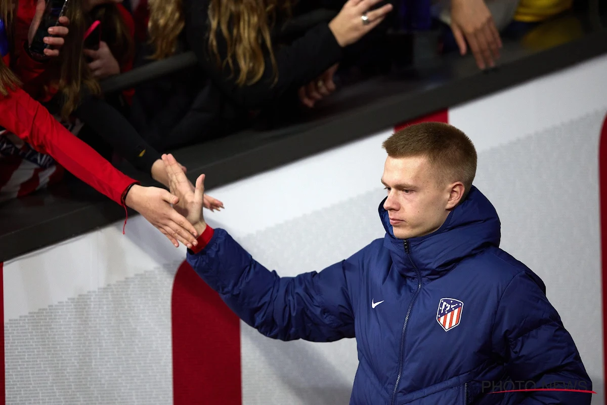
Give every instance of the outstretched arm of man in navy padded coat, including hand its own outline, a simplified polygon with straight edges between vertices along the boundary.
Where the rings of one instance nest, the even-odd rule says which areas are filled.
[[[319,273],[279,277],[245,251],[225,230],[202,216],[204,175],[195,189],[171,155],[163,155],[175,206],[201,235],[188,262],[243,321],[275,339],[335,341],[354,337],[351,291],[358,288],[364,250]]]

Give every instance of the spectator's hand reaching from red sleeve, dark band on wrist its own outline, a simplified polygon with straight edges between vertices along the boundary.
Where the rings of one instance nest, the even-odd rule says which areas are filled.
[[[171,204],[178,202],[178,197],[166,190],[140,185],[132,186],[125,200],[127,206],[135,209],[149,223],[158,228],[175,247],[179,247],[179,242],[181,242],[188,248],[192,248],[192,245],[198,244],[196,237],[200,234],[188,220],[171,207]]]

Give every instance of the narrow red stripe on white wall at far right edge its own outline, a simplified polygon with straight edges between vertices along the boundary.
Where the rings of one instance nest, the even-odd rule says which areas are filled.
[[[607,115],[605,115],[599,138],[599,198],[603,295],[603,375],[605,375],[607,373]]]

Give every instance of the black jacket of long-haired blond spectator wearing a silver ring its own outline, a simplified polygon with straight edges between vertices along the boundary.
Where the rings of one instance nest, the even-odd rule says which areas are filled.
[[[285,98],[310,83],[342,57],[327,22],[317,24],[288,44],[276,46],[278,80],[269,55],[261,80],[251,86],[238,86],[237,73],[217,67],[208,52],[207,0],[184,0],[185,29],[178,52],[192,50],[198,66],[182,70],[154,83],[137,87],[131,120],[140,134],[160,151],[220,137],[251,124],[259,112],[284,107]],[[308,6],[309,7],[309,6]],[[307,12],[294,10],[294,16]],[[277,24],[282,27],[282,24]],[[280,44],[279,30],[274,44]],[[217,38],[220,56],[225,56],[225,39]],[[152,49],[143,50],[150,55]],[[143,57],[141,60],[146,61]]]

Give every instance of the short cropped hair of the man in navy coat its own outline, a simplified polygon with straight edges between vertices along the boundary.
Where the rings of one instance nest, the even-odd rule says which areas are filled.
[[[476,175],[476,149],[464,132],[452,125],[424,122],[396,131],[382,144],[392,158],[425,156],[443,183],[462,182],[466,198]]]

